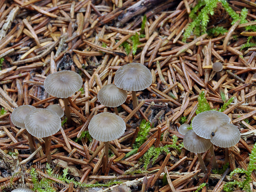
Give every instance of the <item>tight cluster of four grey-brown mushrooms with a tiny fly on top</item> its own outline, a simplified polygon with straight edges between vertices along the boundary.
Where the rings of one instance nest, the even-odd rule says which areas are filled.
[[[179,132],[184,135],[184,147],[196,153],[201,169],[206,172],[201,153],[210,148],[213,156],[213,167],[218,168],[213,145],[225,148],[225,163],[228,162],[228,148],[236,145],[240,140],[240,132],[236,125],[230,124],[230,118],[219,111],[205,111],[199,113],[192,120],[192,130],[189,124],[182,124]]]

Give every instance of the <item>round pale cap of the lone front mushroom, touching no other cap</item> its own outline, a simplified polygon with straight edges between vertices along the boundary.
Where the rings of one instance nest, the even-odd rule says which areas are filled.
[[[124,134],[124,120],[109,112],[103,112],[92,117],[88,130],[93,139],[98,141],[113,141]]]

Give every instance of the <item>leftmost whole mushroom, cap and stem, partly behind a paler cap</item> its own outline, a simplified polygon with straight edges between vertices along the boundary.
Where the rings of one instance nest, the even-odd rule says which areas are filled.
[[[26,129],[25,123],[24,123],[25,117],[33,109],[36,109],[36,108],[31,105],[22,105],[20,107],[17,107],[16,109],[13,110],[11,115],[12,123],[16,127],[19,127],[21,129]],[[35,147],[33,145],[33,136],[28,132],[28,130],[27,130],[27,134],[28,134],[29,148],[30,148],[30,151],[33,153],[35,151]]]

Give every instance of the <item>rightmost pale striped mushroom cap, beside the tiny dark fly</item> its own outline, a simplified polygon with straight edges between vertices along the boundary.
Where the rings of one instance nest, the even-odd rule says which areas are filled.
[[[227,123],[218,127],[218,130],[212,136],[211,142],[218,147],[228,148],[236,145],[240,140],[240,136],[240,131],[236,125]]]

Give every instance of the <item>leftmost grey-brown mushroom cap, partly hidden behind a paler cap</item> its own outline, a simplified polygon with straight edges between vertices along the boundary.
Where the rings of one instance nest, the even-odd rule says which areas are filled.
[[[36,109],[36,108],[32,105],[21,105],[20,107],[17,107],[16,109],[13,110],[11,115],[12,123],[16,127],[26,129],[24,124],[25,117],[33,109]]]

